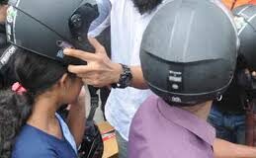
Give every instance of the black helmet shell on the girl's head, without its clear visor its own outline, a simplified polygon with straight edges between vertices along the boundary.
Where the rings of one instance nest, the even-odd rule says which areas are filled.
[[[64,56],[63,48],[93,50],[87,33],[99,17],[95,0],[10,0],[9,5],[6,30],[13,44],[73,64],[81,62]],[[110,47],[109,37],[101,39]]]

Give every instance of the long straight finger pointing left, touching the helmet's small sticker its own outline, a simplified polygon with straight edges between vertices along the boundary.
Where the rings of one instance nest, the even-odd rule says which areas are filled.
[[[76,58],[80,58],[84,61],[97,60],[98,56],[91,52],[86,52],[78,49],[66,48],[64,49],[64,54]]]

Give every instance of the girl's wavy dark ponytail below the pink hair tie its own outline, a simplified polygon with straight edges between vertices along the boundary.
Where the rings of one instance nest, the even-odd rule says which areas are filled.
[[[10,90],[0,91],[0,155],[10,158],[14,138],[31,114],[33,100]]]

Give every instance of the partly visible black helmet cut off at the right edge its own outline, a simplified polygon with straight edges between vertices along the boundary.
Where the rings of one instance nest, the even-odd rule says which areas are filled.
[[[246,66],[256,69],[256,6],[246,4],[233,10],[234,22],[240,40],[239,56]]]

